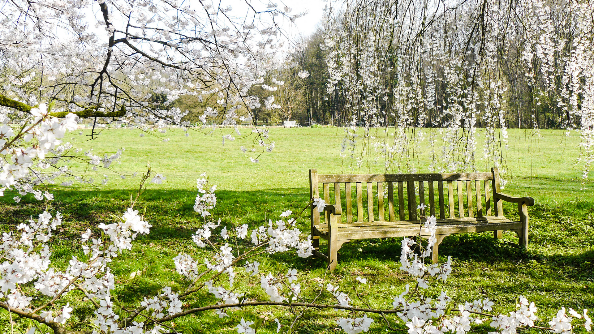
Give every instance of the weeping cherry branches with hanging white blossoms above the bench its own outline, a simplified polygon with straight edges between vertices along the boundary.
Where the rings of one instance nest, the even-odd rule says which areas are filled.
[[[347,0],[334,8],[321,45],[327,98],[344,103],[351,127],[343,156],[353,169],[415,172],[420,147],[431,152],[431,171],[475,171],[481,160],[504,169],[507,122],[520,108],[510,94],[525,85],[522,108],[532,114],[525,125],[538,135],[539,115],[552,111],[561,127],[579,131],[587,178],[594,128],[589,3]],[[477,128],[485,129],[482,149]]]

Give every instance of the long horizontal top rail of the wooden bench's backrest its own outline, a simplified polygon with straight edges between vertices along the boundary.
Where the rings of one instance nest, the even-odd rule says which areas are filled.
[[[318,182],[409,182],[492,179],[492,173],[448,174],[320,174]]]

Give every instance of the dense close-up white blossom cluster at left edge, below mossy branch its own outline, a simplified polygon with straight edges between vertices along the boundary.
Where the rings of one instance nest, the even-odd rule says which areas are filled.
[[[0,196],[5,190],[16,190],[14,200],[18,203],[21,196],[33,194],[36,200],[53,200],[53,194],[43,188],[55,184],[59,177],[74,177],[79,182],[91,182],[74,175],[65,164],[75,159],[89,163],[93,170],[97,166],[110,168],[122,155],[124,149],[104,157],[94,155],[92,151],[84,155],[72,155],[72,144],[62,143],[68,131],[77,129],[78,116],[67,114],[64,118],[50,115],[53,102],[48,105],[40,103],[21,121],[21,127],[8,124],[8,119],[0,122]],[[75,153],[80,150],[75,150]],[[106,182],[107,178],[103,181]],[[71,185],[72,181],[64,181],[62,185]],[[39,188],[42,189],[39,189]]]

